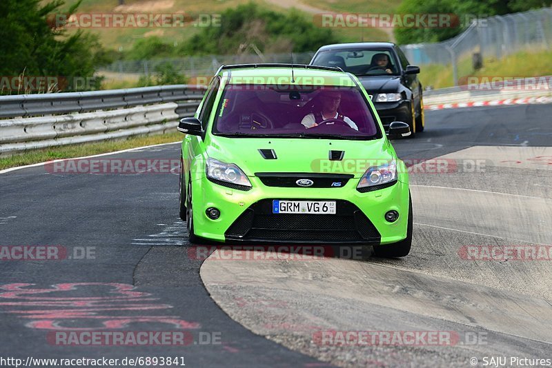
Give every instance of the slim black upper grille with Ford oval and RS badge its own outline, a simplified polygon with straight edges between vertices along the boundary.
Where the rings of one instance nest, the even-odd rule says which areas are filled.
[[[314,174],[314,173],[288,173],[288,172],[256,172],[255,176],[267,187],[295,187],[300,179],[309,179],[313,185],[308,188],[339,188],[344,187],[352,174]]]

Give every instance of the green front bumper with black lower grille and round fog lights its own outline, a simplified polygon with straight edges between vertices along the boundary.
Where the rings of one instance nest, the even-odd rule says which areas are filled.
[[[373,192],[356,190],[357,178],[343,187],[267,187],[250,177],[253,188],[244,192],[199,178],[193,181],[195,235],[210,241],[364,243],[387,244],[406,238],[408,225],[408,183]],[[334,200],[337,213],[272,214],[273,199]],[[221,214],[216,220],[206,216],[208,207]],[[388,223],[384,214],[391,209],[400,216]]]

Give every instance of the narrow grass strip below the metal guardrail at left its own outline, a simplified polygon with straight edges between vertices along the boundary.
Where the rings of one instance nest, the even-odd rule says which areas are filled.
[[[60,147],[49,147],[41,150],[30,150],[22,154],[15,154],[9,157],[0,157],[0,170],[9,167],[30,165],[57,159],[70,159],[72,157],[92,156],[129,148],[142,147],[144,145],[155,145],[181,141],[184,135],[179,132],[166,134],[155,134],[150,136],[133,136],[127,139],[117,139],[96,143],[83,143],[76,145],[63,145]]]

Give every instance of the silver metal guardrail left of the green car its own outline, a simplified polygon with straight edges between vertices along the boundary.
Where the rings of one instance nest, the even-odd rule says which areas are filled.
[[[193,116],[204,88],[0,96],[0,156],[30,149],[165,132]]]

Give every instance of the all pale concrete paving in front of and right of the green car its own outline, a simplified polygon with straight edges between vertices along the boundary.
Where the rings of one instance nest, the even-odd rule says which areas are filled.
[[[404,259],[221,260],[216,251],[201,278],[217,304],[255,334],[340,366],[549,358],[552,172],[529,159],[550,155],[550,147],[471,147],[438,159],[485,159],[486,170],[412,176],[414,240]],[[509,188],[527,181],[525,191]],[[336,331],[422,330],[450,331],[457,343],[332,338]]]

